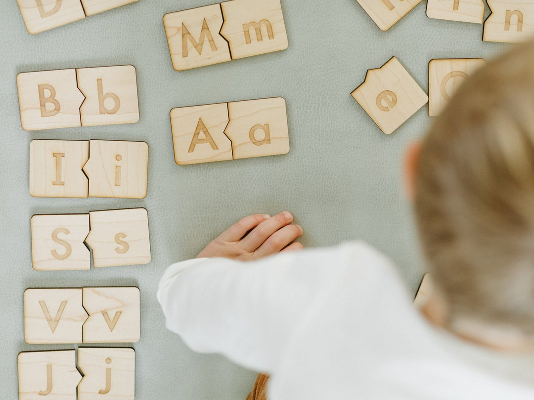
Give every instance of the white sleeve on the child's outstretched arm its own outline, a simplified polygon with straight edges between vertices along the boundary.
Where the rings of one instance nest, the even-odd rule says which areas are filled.
[[[299,321],[341,284],[354,245],[171,265],[158,290],[167,327],[194,351],[272,373]]]

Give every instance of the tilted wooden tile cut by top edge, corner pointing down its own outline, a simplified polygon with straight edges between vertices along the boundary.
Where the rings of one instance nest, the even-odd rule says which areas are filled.
[[[422,0],[356,0],[381,30],[388,30]]]

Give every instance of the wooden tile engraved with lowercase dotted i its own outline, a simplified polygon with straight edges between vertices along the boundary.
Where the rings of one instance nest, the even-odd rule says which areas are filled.
[[[91,140],[89,154],[83,166],[89,177],[89,197],[146,197],[147,143]]]

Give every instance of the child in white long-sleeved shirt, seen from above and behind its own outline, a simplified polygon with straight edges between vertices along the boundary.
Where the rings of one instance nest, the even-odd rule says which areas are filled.
[[[295,251],[282,213],[170,266],[167,327],[270,374],[270,400],[534,399],[534,43],[471,77],[406,165],[435,286],[421,312],[383,255]]]

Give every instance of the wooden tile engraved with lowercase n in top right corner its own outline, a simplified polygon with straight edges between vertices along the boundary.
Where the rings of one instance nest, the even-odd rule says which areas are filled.
[[[534,3],[525,0],[488,0],[491,14],[484,22],[485,42],[525,42],[534,36]]]

